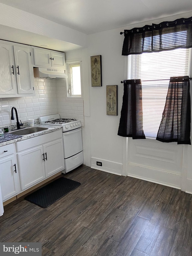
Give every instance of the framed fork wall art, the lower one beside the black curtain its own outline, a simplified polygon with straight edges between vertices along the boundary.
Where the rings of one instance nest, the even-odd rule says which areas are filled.
[[[117,116],[117,85],[106,86],[107,115]]]

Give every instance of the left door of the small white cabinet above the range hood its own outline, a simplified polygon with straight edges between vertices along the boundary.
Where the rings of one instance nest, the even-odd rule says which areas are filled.
[[[33,48],[34,66],[51,67],[51,52],[43,48]]]

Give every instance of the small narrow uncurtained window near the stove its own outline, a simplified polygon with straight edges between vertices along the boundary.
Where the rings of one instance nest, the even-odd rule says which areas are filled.
[[[82,61],[67,63],[67,97],[82,98]]]

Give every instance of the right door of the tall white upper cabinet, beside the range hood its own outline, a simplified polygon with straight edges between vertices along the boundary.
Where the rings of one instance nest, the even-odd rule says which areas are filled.
[[[30,47],[13,46],[18,94],[33,94],[34,75]]]

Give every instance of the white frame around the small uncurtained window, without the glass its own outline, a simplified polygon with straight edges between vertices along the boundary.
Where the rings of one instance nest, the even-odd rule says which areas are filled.
[[[82,60],[68,60],[65,62],[66,64],[66,71],[67,71],[67,83],[66,83],[66,98],[67,100],[83,100],[83,80],[82,80]],[[71,79],[71,73],[70,73],[70,65],[76,65],[78,64],[80,66],[80,79],[81,79],[81,95],[73,95],[71,96],[69,93],[69,85],[70,85],[70,79]]]

